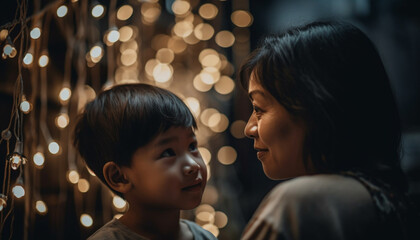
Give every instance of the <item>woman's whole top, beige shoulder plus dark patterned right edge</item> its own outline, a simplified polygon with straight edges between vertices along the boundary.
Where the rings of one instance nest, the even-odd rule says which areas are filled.
[[[405,199],[361,173],[298,177],[266,196],[242,239],[420,239]]]

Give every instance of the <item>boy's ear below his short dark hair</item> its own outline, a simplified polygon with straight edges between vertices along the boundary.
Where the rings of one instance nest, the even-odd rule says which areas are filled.
[[[115,191],[126,193],[131,188],[131,183],[124,175],[120,166],[115,162],[107,162],[103,167],[105,181]]]

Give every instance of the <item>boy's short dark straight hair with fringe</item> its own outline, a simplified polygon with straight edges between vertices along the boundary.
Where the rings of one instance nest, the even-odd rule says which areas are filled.
[[[197,127],[190,110],[175,94],[141,83],[117,85],[86,105],[75,127],[74,146],[108,185],[102,171],[105,163],[130,166],[138,148],[172,126]]]

